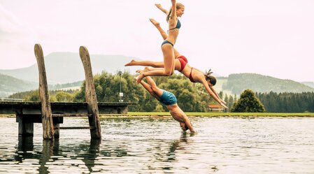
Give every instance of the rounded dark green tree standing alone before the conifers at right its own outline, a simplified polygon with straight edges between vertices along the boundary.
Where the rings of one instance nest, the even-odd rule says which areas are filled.
[[[231,108],[234,113],[264,113],[265,108],[263,104],[257,99],[254,92],[246,89],[240,96],[240,99],[234,103]]]

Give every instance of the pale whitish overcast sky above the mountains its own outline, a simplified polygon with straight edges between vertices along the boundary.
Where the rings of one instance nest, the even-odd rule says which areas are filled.
[[[190,66],[314,82],[313,0],[178,2],[185,14],[175,48]],[[85,45],[90,55],[163,61],[163,40],[149,18],[168,25],[155,3],[171,6],[170,0],[0,0],[0,69],[36,64],[35,43],[44,55]]]

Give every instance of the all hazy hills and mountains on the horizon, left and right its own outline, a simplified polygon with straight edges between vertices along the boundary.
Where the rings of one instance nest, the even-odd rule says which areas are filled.
[[[143,66],[124,66],[131,59],[141,61],[134,57],[90,55],[90,59],[94,75],[102,71],[113,74],[117,71],[134,73],[137,69],[143,68]],[[78,53],[51,53],[45,56],[45,68],[49,89],[80,86],[85,79],[83,64]],[[225,94],[237,95],[244,89],[252,89],[254,92],[314,92],[314,82],[295,82],[266,75],[239,73],[231,74],[227,78],[218,77],[215,88],[217,91],[224,91]],[[37,64],[27,68],[0,70],[0,97],[31,89],[38,89]]]

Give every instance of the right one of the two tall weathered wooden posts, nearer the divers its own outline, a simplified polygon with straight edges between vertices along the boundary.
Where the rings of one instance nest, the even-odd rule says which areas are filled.
[[[80,59],[82,60],[85,71],[85,98],[87,102],[87,110],[89,114],[92,114],[92,117],[88,117],[90,126],[93,127],[93,129],[90,129],[90,136],[94,139],[101,139],[99,111],[92,75],[92,66],[90,64],[90,54],[84,46],[80,46]]]

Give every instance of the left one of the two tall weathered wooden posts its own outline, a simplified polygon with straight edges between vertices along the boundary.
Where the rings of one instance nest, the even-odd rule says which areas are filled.
[[[45,61],[43,60],[43,50],[41,49],[41,45],[39,44],[35,44],[34,50],[39,73],[39,98],[41,99],[41,120],[43,124],[43,139],[53,140],[55,131],[53,129],[47,78],[45,74]]]

